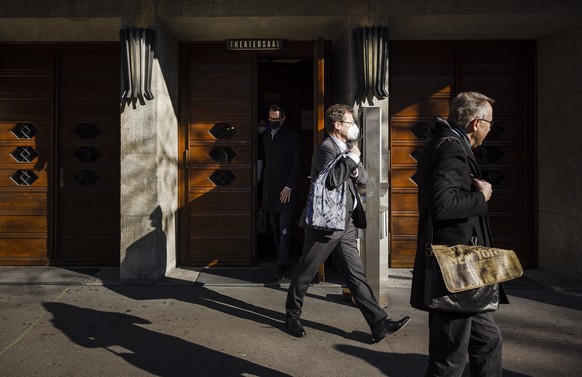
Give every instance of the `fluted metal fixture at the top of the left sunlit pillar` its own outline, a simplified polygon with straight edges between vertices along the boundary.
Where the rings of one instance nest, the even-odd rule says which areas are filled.
[[[119,31],[121,41],[122,99],[153,99],[152,65],[156,31],[128,28]]]

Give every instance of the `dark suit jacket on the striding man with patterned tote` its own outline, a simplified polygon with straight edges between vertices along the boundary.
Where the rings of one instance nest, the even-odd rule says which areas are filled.
[[[342,153],[340,147],[331,139],[326,138],[313,154],[311,162],[311,181],[315,182],[319,173],[323,170],[325,165],[333,161],[338,154]],[[358,170],[358,177],[353,178],[352,172]],[[325,182],[329,189],[334,189],[347,182],[348,194],[346,195],[346,218],[345,228],[347,229],[350,221],[359,228],[365,228],[365,212],[361,201],[359,200],[357,188],[363,186],[368,182],[368,172],[360,163],[356,163],[350,157],[340,158],[335,166],[330,170],[327,180]],[[354,209],[354,201],[357,201]],[[321,230],[311,229],[305,225],[305,216],[301,216],[300,225],[305,227],[306,231],[321,232],[328,234],[331,238],[339,238],[344,233],[343,231],[325,232]]]

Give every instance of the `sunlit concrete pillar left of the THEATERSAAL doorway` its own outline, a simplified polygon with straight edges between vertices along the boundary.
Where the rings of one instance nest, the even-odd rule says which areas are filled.
[[[161,29],[154,99],[122,103],[120,280],[152,284],[176,265],[178,44]]]

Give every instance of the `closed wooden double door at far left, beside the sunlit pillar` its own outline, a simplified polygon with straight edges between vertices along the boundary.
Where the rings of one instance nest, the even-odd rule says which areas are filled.
[[[0,264],[119,264],[119,46],[0,45]]]

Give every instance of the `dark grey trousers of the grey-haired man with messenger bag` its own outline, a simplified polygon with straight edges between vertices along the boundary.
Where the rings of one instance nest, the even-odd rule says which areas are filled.
[[[501,377],[501,332],[492,313],[429,312],[425,376],[460,377],[469,355],[471,377]]]

